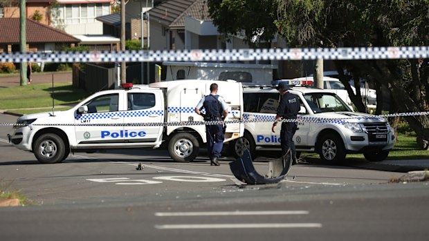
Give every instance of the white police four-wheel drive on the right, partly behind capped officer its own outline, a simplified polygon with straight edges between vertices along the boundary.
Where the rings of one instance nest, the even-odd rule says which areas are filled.
[[[394,131],[382,117],[354,112],[331,90],[293,86],[301,110],[293,141],[300,152],[316,152],[329,162],[345,160],[347,153],[363,153],[369,161],[385,160],[394,146]],[[244,88],[244,137],[231,142],[239,156],[245,148],[252,155],[259,148],[280,148],[280,125],[271,127],[280,103],[279,92],[271,86]]]

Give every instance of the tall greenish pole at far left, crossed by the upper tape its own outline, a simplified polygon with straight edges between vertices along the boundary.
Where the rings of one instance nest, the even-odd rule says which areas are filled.
[[[27,52],[27,32],[26,32],[26,0],[21,0],[19,5],[19,50],[24,53]],[[27,85],[27,62],[21,62],[21,68],[19,70],[19,74],[21,77],[20,85]]]

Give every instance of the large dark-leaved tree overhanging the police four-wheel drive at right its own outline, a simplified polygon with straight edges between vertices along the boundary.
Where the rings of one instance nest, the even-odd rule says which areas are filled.
[[[428,46],[429,0],[275,0],[255,1],[273,22],[265,21],[268,30],[275,29],[289,41],[291,47],[337,48],[366,46]],[[209,0],[209,11],[219,31],[232,34],[240,26],[244,29],[259,27],[259,15],[242,12],[251,0]],[[258,3],[253,3],[257,5]],[[234,8],[238,6],[235,13]],[[211,8],[218,7],[219,10]],[[259,11],[258,8],[250,10]],[[246,20],[253,16],[248,23]],[[261,18],[262,19],[262,18]],[[230,24],[230,27],[228,27]],[[250,25],[250,26],[248,26]],[[270,26],[271,25],[271,26]],[[247,39],[252,32],[246,30]],[[267,35],[270,32],[266,32]],[[271,32],[275,35],[275,32]],[[269,39],[266,36],[266,39]],[[376,59],[334,61],[349,97],[360,112],[365,104],[360,97],[360,77],[374,81],[377,90],[377,110],[381,113],[382,86],[393,96],[390,113],[428,110],[429,59]],[[352,73],[356,94],[349,85],[344,70]],[[429,149],[429,118],[405,117],[417,133],[418,143]]]

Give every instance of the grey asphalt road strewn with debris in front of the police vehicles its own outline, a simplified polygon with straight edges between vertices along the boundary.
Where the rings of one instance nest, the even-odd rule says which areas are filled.
[[[403,173],[298,164],[279,184],[239,186],[232,159],[126,149],[39,164],[6,142],[10,132],[0,126],[1,184],[35,204],[0,209],[0,240],[428,239],[428,182],[389,182]]]

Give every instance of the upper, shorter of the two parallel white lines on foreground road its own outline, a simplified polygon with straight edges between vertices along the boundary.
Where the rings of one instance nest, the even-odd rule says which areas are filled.
[[[176,212],[155,213],[158,217],[177,216],[233,216],[233,215],[305,215],[309,211],[217,211],[217,212]]]

